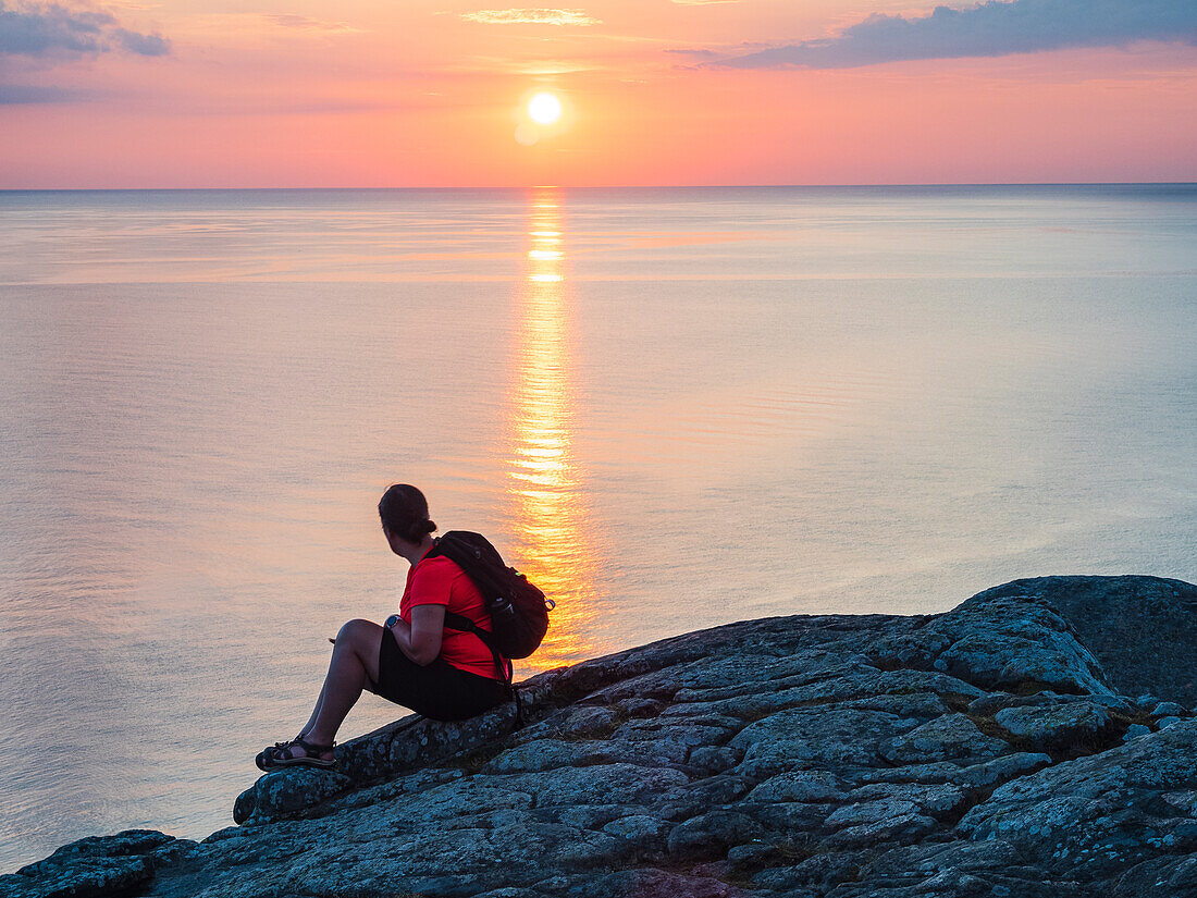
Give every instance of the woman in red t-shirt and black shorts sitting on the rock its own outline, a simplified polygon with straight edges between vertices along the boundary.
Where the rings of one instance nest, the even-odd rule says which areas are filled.
[[[332,767],[333,741],[345,715],[369,690],[438,721],[473,717],[508,698],[494,656],[473,633],[445,630],[445,612],[491,629],[482,594],[448,558],[425,558],[436,546],[437,526],[414,486],[395,484],[378,503],[390,550],[412,565],[407,587],[385,626],[351,620],[333,642],[328,675],[311,718],[290,742],[261,752],[262,770],[305,765]],[[504,659],[505,661],[505,659]]]

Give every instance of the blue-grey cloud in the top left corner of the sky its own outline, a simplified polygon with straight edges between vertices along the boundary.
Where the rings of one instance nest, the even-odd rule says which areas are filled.
[[[116,50],[162,56],[170,53],[170,42],[159,35],[128,31],[103,10],[60,4],[8,6],[0,0],[0,56],[55,59]]]

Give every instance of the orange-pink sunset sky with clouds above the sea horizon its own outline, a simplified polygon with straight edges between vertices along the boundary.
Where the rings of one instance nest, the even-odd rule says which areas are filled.
[[[1197,180],[1195,0],[488,4],[0,0],[0,188]]]

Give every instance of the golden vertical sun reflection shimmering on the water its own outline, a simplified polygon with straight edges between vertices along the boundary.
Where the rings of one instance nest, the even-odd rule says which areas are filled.
[[[557,602],[545,644],[521,665],[542,671],[588,655],[596,565],[572,455],[575,398],[560,202],[554,189],[537,188],[529,205],[504,457],[514,557]]]

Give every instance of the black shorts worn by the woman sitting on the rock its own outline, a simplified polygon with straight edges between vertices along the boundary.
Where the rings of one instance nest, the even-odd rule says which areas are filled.
[[[378,682],[367,688],[435,721],[462,721],[509,698],[506,684],[461,671],[443,657],[420,667],[385,631],[378,650]]]

